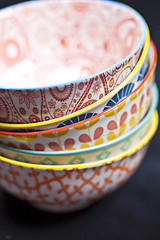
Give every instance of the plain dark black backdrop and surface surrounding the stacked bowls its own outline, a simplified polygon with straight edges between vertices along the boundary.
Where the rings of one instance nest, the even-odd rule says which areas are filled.
[[[0,0],[0,8],[22,1]],[[160,52],[160,1],[125,0],[146,19]],[[156,81],[159,84],[160,65]],[[136,174],[81,212],[40,212],[0,190],[0,240],[160,240],[160,130]]]

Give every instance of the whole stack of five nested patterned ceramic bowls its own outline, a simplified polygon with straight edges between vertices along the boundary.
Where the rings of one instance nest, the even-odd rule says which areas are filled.
[[[157,51],[140,14],[31,1],[0,11],[0,36],[1,187],[65,212],[124,183],[158,127]]]

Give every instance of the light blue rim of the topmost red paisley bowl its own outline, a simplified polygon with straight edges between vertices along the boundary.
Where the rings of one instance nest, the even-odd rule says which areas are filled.
[[[2,15],[5,15],[5,12],[7,12],[8,10],[11,11],[12,8],[23,8],[27,5],[32,5],[32,6],[36,6],[37,4],[40,5],[40,4],[48,4],[50,3],[51,1],[50,0],[45,0],[45,1],[42,1],[42,0],[31,0],[30,2],[22,2],[22,3],[16,3],[16,4],[13,4],[13,5],[10,5],[10,6],[7,6],[7,7],[4,7],[0,10],[0,14]],[[63,0],[61,1],[62,3],[68,3],[67,0]],[[71,0],[70,2],[77,2],[76,0]],[[76,79],[74,81],[70,81],[70,82],[67,82],[67,83],[60,83],[60,84],[54,84],[54,85],[48,85],[48,86],[43,86],[43,87],[27,87],[27,88],[8,88],[8,87],[1,87],[2,89],[9,89],[9,90],[26,90],[26,89],[31,89],[31,90],[36,90],[36,89],[48,89],[48,88],[53,88],[53,87],[61,87],[61,86],[64,86],[64,85],[69,85],[71,83],[78,83],[78,82],[81,82],[81,81],[85,81],[85,80],[88,80],[90,78],[93,78],[97,75],[100,75],[106,71],[110,71],[111,69],[115,68],[116,66],[122,64],[123,62],[125,62],[126,60],[130,59],[131,57],[133,57],[133,55],[139,51],[139,49],[143,46],[144,42],[145,42],[145,39],[146,39],[146,36],[147,36],[147,24],[146,24],[146,21],[145,19],[143,18],[143,16],[137,11],[135,10],[134,8],[132,8],[131,6],[125,4],[125,3],[121,3],[121,2],[117,2],[117,1],[114,1],[114,0],[109,0],[109,1],[104,1],[104,0],[95,0],[95,1],[90,1],[90,0],[86,0],[86,1],[83,1],[83,0],[79,0],[78,2],[85,2],[85,3],[92,3],[92,4],[102,4],[102,5],[106,5],[106,4],[110,4],[111,6],[121,6],[122,8],[124,9],[127,9],[128,11],[130,12],[133,12],[133,15],[135,15],[135,17],[139,20],[139,22],[141,22],[141,25],[142,25],[142,38],[140,40],[140,42],[138,43],[138,45],[136,46],[136,48],[134,50],[132,50],[132,52],[130,54],[128,54],[125,58],[123,58],[121,61],[119,61],[118,63],[108,67],[108,68],[105,68],[105,70],[102,70],[102,71],[98,71],[96,72],[95,74],[92,74],[92,75],[89,75],[87,77],[83,77],[83,78],[79,78],[79,79]],[[59,1],[55,0],[53,3],[59,3]]]

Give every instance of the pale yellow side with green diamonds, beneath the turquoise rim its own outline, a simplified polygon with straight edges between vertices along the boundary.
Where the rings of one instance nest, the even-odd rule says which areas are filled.
[[[150,119],[143,127],[141,127],[138,132],[135,134],[124,138],[124,140],[111,144],[111,146],[106,146],[104,148],[98,149],[96,151],[89,152],[80,152],[79,154],[70,154],[70,155],[42,155],[31,151],[16,151],[14,148],[5,148],[3,145],[0,145],[0,155],[11,158],[13,160],[28,162],[33,164],[46,164],[46,165],[68,165],[68,164],[81,164],[94,162],[104,159],[113,159],[117,155],[124,153],[130,148],[138,144],[142,139],[144,139],[154,124],[154,117]],[[94,149],[93,149],[94,150]]]

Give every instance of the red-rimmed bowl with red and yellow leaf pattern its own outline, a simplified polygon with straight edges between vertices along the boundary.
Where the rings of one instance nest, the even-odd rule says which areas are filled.
[[[107,143],[127,133],[140,122],[151,103],[150,89],[153,86],[157,61],[153,44],[152,47],[150,69],[146,77],[135,91],[116,105],[112,106],[114,102],[109,102],[101,114],[70,126],[65,126],[64,122],[64,126],[59,129],[35,133],[0,131],[0,142],[10,147],[32,151],[71,151]],[[120,99],[130,88],[129,85],[121,89],[114,96],[114,100]]]

